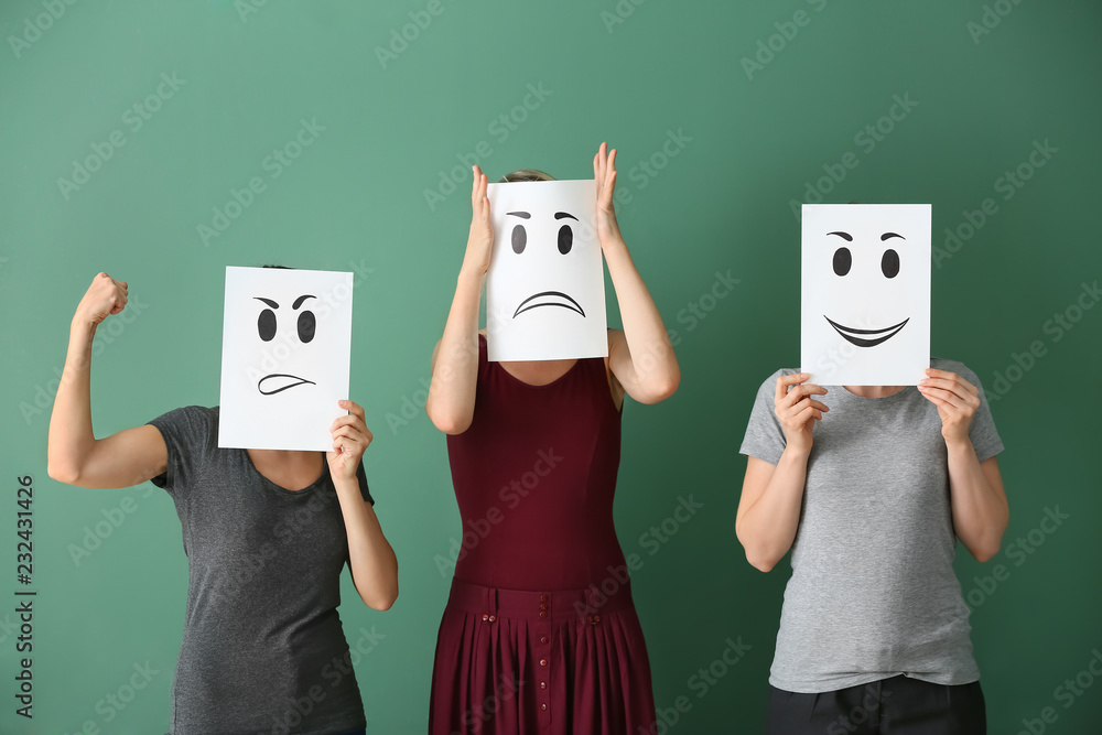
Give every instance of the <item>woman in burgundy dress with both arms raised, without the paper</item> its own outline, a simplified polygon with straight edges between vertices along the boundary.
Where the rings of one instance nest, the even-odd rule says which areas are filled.
[[[651,732],[650,667],[613,526],[620,411],[680,371],[613,210],[616,151],[593,159],[597,235],[624,329],[608,357],[489,363],[478,329],[494,235],[474,166],[466,255],[426,411],[449,434],[463,547],[436,641],[431,735]],[[540,181],[534,171],[503,181]]]

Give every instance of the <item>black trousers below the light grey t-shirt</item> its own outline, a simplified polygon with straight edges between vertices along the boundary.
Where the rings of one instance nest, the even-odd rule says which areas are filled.
[[[949,687],[892,677],[833,692],[770,687],[768,735],[985,735],[980,682]]]

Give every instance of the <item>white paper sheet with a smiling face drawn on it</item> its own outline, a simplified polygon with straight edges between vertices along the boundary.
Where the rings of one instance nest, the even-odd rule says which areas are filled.
[[[914,386],[930,367],[929,204],[804,204],[800,371]]]

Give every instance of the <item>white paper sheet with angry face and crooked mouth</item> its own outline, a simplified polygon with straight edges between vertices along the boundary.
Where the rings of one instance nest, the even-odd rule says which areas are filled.
[[[353,274],[226,269],[218,446],[328,451],[347,412]]]

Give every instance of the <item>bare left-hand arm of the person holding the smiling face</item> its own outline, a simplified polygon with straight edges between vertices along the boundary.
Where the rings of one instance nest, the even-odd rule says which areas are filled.
[[[771,570],[796,540],[808,478],[808,456],[815,421],[827,408],[812,396],[825,388],[804,383],[806,372],[777,378],[775,411],[785,430],[786,445],[774,466],[748,457],[743,494],[735,516],[735,536],[746,550],[746,560],[763,572]],[[789,389],[791,387],[791,389]]]

